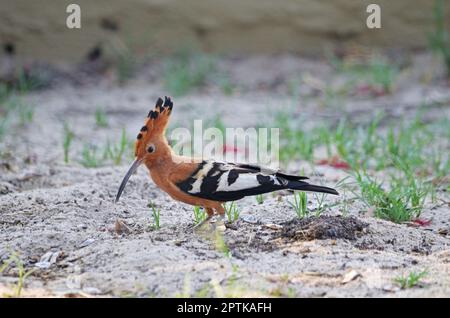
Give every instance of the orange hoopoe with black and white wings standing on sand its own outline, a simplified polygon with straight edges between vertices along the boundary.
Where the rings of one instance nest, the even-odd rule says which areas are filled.
[[[144,164],[154,183],[173,199],[203,207],[207,220],[224,217],[224,202],[246,196],[291,189],[338,195],[332,188],[309,184],[307,177],[285,174],[257,165],[199,160],[176,155],[165,137],[172,112],[170,97],[159,98],[148,113],[135,143],[135,160],[120,184],[115,202],[131,175]]]

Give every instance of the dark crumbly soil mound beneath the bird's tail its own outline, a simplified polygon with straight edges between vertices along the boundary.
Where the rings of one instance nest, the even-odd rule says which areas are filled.
[[[288,240],[325,240],[347,239],[355,240],[363,235],[369,226],[354,217],[327,216],[292,219],[281,224],[283,228],[277,234],[278,238]]]

